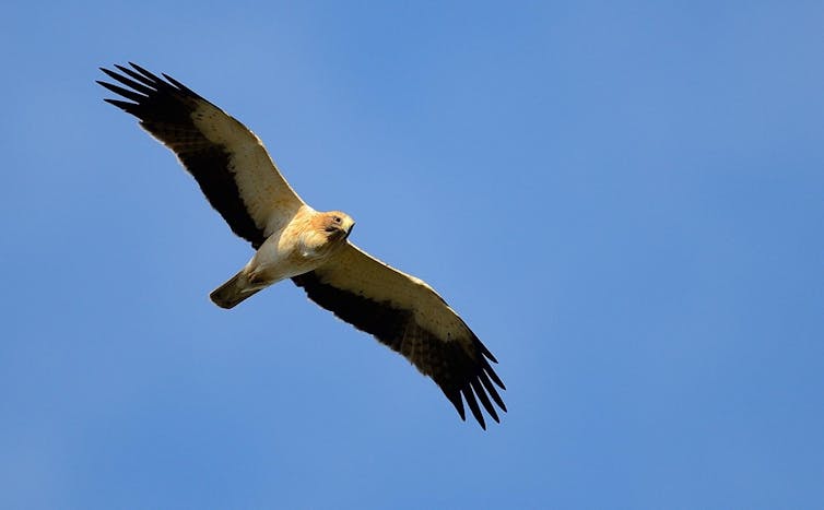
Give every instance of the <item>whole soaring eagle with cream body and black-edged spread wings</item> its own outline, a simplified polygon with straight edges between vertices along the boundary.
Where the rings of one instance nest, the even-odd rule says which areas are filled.
[[[179,81],[144,68],[101,68],[97,81],[121,98],[104,99],[138,118],[170,149],[209,203],[255,254],[211,293],[233,308],[290,278],[309,299],[403,355],[440,388],[466,420],[463,401],[486,429],[486,413],[506,412],[497,359],[429,285],[366,253],[350,240],[354,220],[310,207],[281,175],[260,139]],[[119,71],[119,72],[118,72]],[[122,100],[127,99],[127,100]]]

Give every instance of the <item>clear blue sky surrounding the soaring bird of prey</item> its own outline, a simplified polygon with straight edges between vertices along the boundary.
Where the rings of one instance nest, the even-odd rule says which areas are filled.
[[[824,508],[824,4],[13,2],[0,507]],[[102,102],[254,129],[497,356],[484,432]]]

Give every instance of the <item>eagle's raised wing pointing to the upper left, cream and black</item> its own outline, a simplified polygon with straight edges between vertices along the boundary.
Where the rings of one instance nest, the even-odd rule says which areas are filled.
[[[129,100],[105,100],[177,154],[235,234],[258,248],[303,205],[246,126],[166,74],[115,67],[102,71],[128,88],[97,83]]]

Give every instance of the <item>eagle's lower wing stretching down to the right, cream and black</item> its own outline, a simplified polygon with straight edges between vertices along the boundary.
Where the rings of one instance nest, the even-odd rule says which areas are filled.
[[[490,365],[497,360],[425,282],[351,244],[292,281],[321,307],[405,356],[440,387],[462,419],[461,395],[481,427],[486,428],[479,400],[495,422],[490,398],[506,411],[493,384],[505,389]]]

